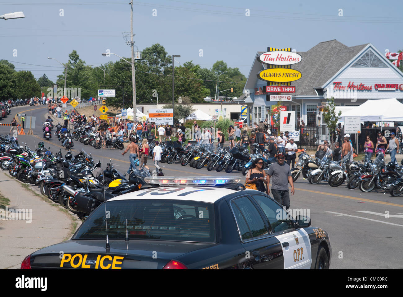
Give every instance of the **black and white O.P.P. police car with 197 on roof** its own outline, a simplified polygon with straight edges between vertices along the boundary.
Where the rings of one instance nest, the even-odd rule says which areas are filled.
[[[21,269],[328,269],[328,233],[238,177],[147,177]],[[158,187],[160,185],[161,187]]]

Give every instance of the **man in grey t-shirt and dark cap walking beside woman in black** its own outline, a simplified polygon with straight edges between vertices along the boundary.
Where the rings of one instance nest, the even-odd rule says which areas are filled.
[[[270,195],[270,178],[272,178],[273,198],[285,209],[290,208],[290,194],[288,192],[288,183],[291,185],[291,195],[294,195],[294,183],[291,176],[290,166],[285,161],[285,155],[280,152],[277,155],[277,163],[271,164],[267,172],[267,191]]]

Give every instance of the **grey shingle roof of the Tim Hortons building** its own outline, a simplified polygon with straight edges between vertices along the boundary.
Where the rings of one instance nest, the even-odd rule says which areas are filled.
[[[316,96],[314,87],[326,83],[365,46],[367,44],[349,47],[334,39],[320,42],[309,51],[297,52],[302,61],[292,68],[301,72],[302,78],[292,82],[296,88],[295,96]],[[262,53],[258,52],[258,55]],[[263,66],[266,69],[267,65]]]

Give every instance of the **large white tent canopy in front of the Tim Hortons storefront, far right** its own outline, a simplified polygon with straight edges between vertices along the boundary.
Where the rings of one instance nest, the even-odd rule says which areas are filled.
[[[361,122],[403,122],[403,104],[395,98],[368,100],[341,116],[360,116]]]

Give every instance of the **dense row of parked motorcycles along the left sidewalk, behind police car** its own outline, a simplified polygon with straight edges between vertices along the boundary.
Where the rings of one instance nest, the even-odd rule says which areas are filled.
[[[113,166],[112,160],[102,169],[101,162],[94,162],[84,150],[75,156],[69,150],[63,157],[61,149],[53,154],[43,143],[34,151],[23,144],[0,135],[1,169],[23,183],[39,186],[43,195],[81,219],[110,198],[154,187],[144,181],[151,174],[143,168],[132,169],[127,176]]]

